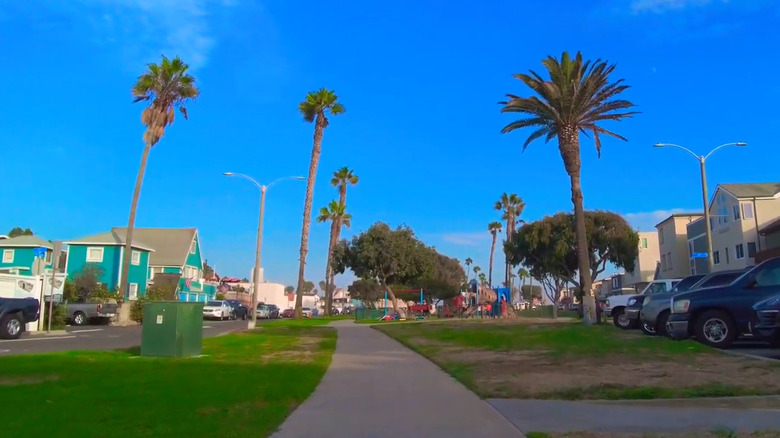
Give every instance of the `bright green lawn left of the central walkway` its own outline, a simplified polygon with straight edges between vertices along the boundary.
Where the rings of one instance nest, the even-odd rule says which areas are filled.
[[[138,349],[0,358],[4,436],[264,437],[316,388],[336,332],[310,321],[205,339],[203,357]]]

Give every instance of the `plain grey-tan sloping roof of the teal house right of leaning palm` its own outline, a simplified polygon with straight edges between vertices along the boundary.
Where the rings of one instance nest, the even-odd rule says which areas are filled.
[[[112,231],[124,233],[125,228]],[[138,238],[153,244],[155,252],[149,255],[149,265],[184,266],[197,232],[195,228],[134,228],[133,241]]]

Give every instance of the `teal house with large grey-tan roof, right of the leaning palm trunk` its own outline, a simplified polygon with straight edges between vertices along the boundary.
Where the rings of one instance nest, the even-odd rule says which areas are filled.
[[[114,228],[124,233],[126,228]],[[203,279],[203,255],[196,228],[134,228],[133,241],[147,242],[154,251],[149,255],[148,282],[156,276],[178,276],[180,301],[214,299],[216,286]]]

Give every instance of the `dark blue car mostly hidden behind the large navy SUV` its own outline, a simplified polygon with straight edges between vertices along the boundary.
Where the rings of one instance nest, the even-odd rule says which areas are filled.
[[[646,335],[657,334],[667,336],[666,320],[671,313],[669,300],[673,296],[694,289],[727,285],[736,280],[737,277],[745,273],[745,271],[746,269],[738,269],[715,272],[709,275],[691,275],[690,277],[683,278],[682,281],[677,283],[677,286],[667,293],[648,296],[642,304],[639,315],[640,329]],[[691,281],[693,281],[692,284]]]

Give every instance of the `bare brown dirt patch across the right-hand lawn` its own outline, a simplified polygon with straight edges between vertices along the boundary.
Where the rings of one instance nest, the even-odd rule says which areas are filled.
[[[484,397],[561,398],[555,394],[586,387],[668,389],[741,388],[751,393],[780,393],[778,369],[765,362],[727,355],[675,357],[550,357],[545,351],[492,351],[452,347],[412,338],[428,347],[432,359],[471,369],[474,389]],[[431,348],[435,347],[435,348]],[[724,394],[729,395],[729,394]],[[566,397],[563,397],[566,398]],[[571,398],[599,398],[598,395]]]

